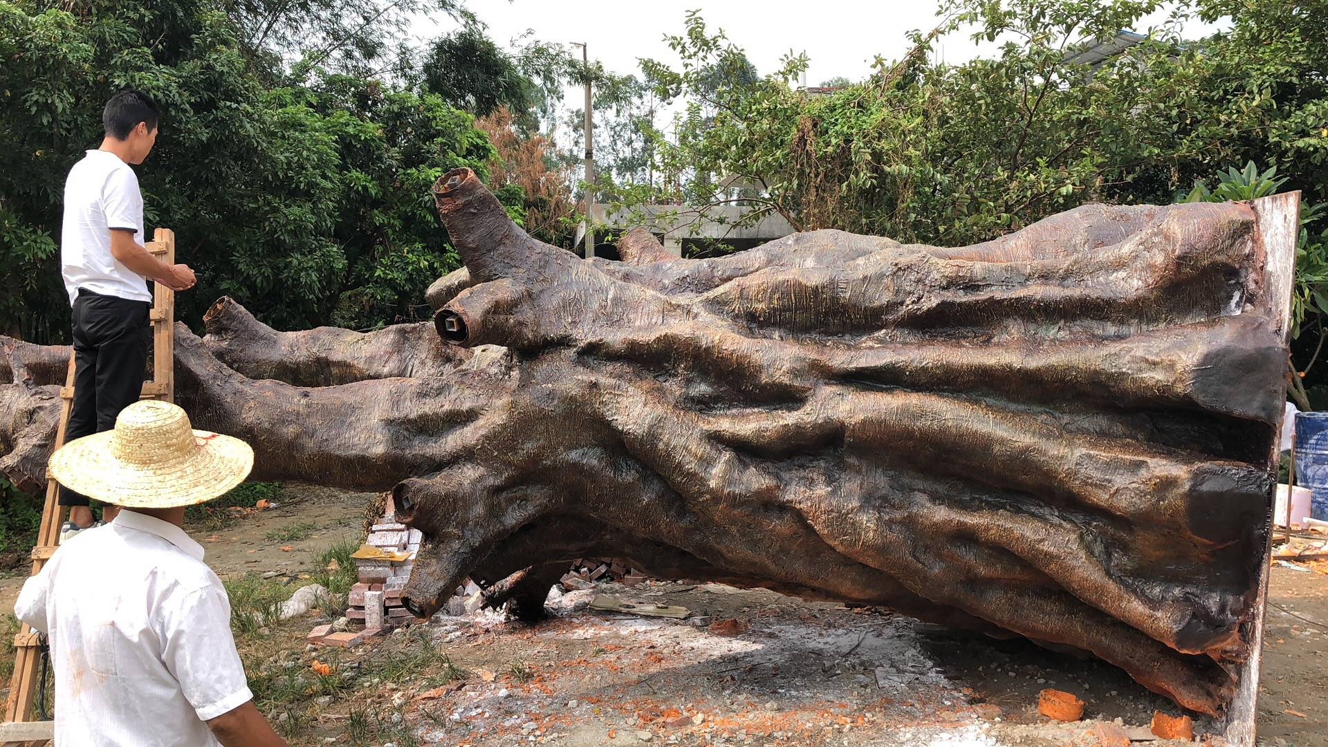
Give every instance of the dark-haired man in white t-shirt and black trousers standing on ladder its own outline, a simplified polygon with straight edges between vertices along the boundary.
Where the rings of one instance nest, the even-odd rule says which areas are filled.
[[[173,291],[195,282],[187,265],[159,262],[142,246],[143,197],[130,165],[142,163],[157,142],[157,105],[145,93],[122,90],[101,118],[101,148],[89,150],[65,179],[60,265],[73,304],[70,441],[112,429],[120,411],[138,401],[153,302],[146,280]],[[93,525],[86,496],[61,488],[60,505],[69,506],[61,541]]]

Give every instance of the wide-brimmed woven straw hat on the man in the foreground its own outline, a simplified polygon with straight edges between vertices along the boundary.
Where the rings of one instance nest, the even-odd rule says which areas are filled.
[[[137,401],[116,428],[76,439],[46,465],[61,485],[125,508],[210,501],[244,481],[254,449],[239,439],[194,431],[179,407]]]

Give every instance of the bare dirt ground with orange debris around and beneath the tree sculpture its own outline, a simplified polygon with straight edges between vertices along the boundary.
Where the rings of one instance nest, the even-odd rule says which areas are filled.
[[[359,540],[367,496],[315,488],[290,494],[291,502],[231,526],[193,528],[208,564],[223,577],[268,574],[293,590],[312,570],[313,552]],[[12,609],[21,582],[0,578],[0,610]],[[1328,746],[1328,576],[1275,568],[1271,584],[1259,743]],[[596,594],[684,606],[712,621],[736,619],[737,630],[725,635],[722,625],[588,610]],[[410,635],[426,635],[452,671],[470,677],[438,687],[424,671],[393,681],[364,674],[353,696],[320,699],[324,707],[293,743],[351,743],[348,732],[361,718],[356,708],[365,704],[388,708],[421,744],[471,747],[1050,747],[1092,744],[1084,732],[1097,720],[1130,728],[1146,727],[1154,710],[1179,714],[1093,659],[765,590],[611,584],[559,595],[551,607],[556,615],[535,627],[487,611],[436,617]],[[311,625],[292,621],[282,633],[284,646],[304,659],[329,658],[325,650],[304,651],[301,631]],[[374,657],[418,645],[397,634],[333,658],[348,675],[361,666],[372,674]],[[1085,720],[1046,723],[1035,708],[1044,687],[1082,698]],[[1198,734],[1214,730],[1195,720]]]

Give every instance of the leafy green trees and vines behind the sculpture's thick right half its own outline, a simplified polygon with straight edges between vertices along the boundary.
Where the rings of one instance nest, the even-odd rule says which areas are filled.
[[[1158,12],[1165,21],[1138,44],[1085,54]],[[806,69],[791,56],[754,84],[716,89],[706,70],[741,49],[689,15],[668,37],[681,64],[643,62],[661,97],[687,102],[676,136],[656,133],[656,167],[683,175],[692,206],[738,202],[748,221],[776,211],[797,229],[940,245],[1085,202],[1170,202],[1251,161],[1275,170],[1243,186],[1228,171],[1212,194],[1271,185],[1328,202],[1328,0],[946,0],[940,16],[910,35],[903,58],[878,57],[869,80],[810,96],[791,85]],[[1193,19],[1224,31],[1186,39]],[[965,29],[996,53],[930,61],[939,37]],[[734,181],[756,189],[736,194]],[[1297,332],[1321,332],[1328,311],[1324,223],[1319,210],[1303,215]],[[1305,338],[1301,366],[1317,356]]]

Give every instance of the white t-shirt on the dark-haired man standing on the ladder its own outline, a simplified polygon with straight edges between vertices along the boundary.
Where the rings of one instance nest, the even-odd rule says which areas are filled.
[[[131,229],[143,243],[143,195],[138,175],[106,150],[89,150],[65,179],[60,265],[69,303],[78,288],[151,303],[147,282],[110,255],[110,229]]]

